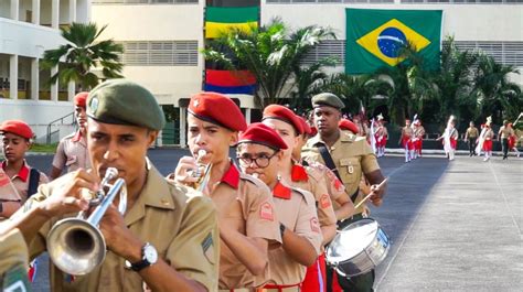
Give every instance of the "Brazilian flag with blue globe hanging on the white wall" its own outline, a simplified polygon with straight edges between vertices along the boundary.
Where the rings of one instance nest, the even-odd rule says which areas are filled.
[[[410,43],[426,69],[439,69],[441,10],[352,9],[346,14],[345,73],[374,73],[404,60],[401,47]]]

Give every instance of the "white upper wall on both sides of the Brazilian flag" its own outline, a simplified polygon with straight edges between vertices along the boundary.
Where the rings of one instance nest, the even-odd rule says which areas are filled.
[[[512,4],[265,4],[262,22],[280,17],[293,28],[330,26],[345,39],[345,8],[444,10],[444,36],[457,41],[522,41],[523,6]]]

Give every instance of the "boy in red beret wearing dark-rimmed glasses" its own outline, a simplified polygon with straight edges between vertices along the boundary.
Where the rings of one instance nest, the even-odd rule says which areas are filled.
[[[273,191],[282,245],[269,250],[268,279],[258,283],[269,291],[300,291],[305,267],[311,266],[321,248],[321,229],[314,197],[279,177],[287,143],[271,128],[253,123],[239,136],[237,158],[242,170],[258,176]]]

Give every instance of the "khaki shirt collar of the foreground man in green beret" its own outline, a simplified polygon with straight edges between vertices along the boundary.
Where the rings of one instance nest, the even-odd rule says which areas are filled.
[[[172,190],[170,190],[167,180],[151,164],[149,159],[147,159],[146,167],[148,171],[146,185],[140,192],[140,197],[125,216],[127,226],[146,216],[146,205],[161,209],[174,209]]]

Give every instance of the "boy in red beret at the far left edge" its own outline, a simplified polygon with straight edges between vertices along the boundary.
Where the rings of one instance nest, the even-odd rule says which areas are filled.
[[[36,193],[47,176],[25,162],[33,131],[21,120],[6,120],[0,125],[4,161],[0,170],[0,219],[9,218]],[[14,191],[13,191],[14,188]]]

